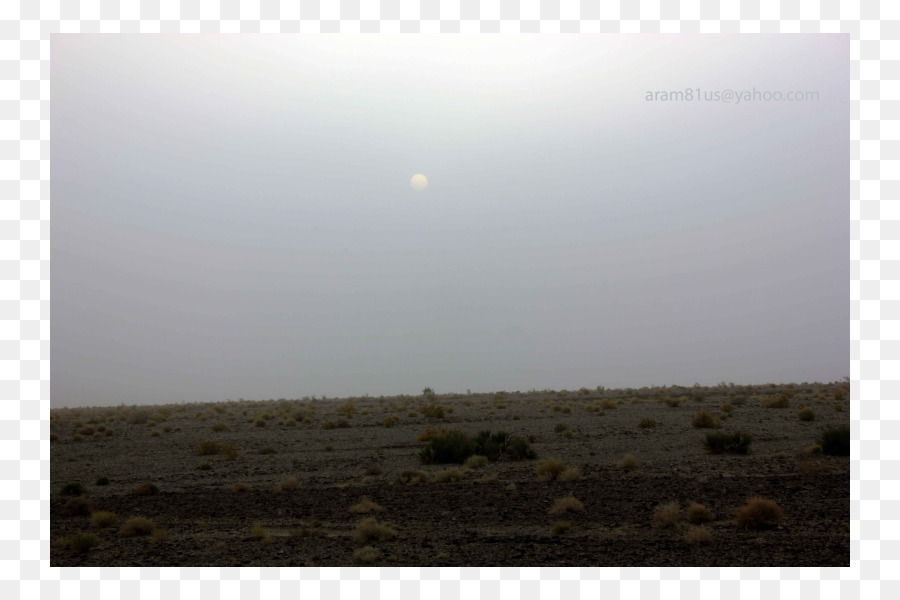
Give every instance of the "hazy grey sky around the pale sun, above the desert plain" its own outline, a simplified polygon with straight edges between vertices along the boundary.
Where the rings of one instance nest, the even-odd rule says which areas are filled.
[[[847,36],[51,51],[53,406],[849,375]]]

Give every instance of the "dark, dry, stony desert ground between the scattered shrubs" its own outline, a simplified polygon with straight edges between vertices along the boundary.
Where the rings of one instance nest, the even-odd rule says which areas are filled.
[[[782,391],[794,394],[787,408],[764,405]],[[846,566],[849,458],[798,453],[825,427],[849,425],[848,391],[842,382],[54,410],[51,563]],[[452,412],[426,417],[420,407],[429,404]],[[798,418],[801,406],[812,407],[814,420]],[[751,453],[707,454],[702,439],[710,430],[691,425],[698,409],[727,415],[721,431],[752,434]],[[391,416],[396,424],[386,427]],[[346,427],[326,428],[340,419]],[[639,427],[643,419],[655,427]],[[224,430],[213,430],[218,423]],[[430,480],[459,467],[420,463],[425,443],[416,437],[429,425],[530,437],[538,458],[462,469],[459,481],[401,483],[403,471],[423,470]],[[238,456],[199,455],[204,439],[231,444]],[[636,468],[619,468],[626,453]],[[549,457],[577,467],[582,478],[538,481],[535,468]],[[98,485],[102,477],[109,483]],[[296,487],[277,489],[286,478]],[[113,525],[93,525],[80,501],[63,494],[75,482],[89,511],[116,514]],[[249,489],[234,491],[238,482]],[[135,495],[144,483],[158,492]],[[550,514],[568,495],[583,512]],[[351,512],[361,496],[384,510]],[[756,496],[781,507],[779,525],[737,526],[735,510]],[[673,501],[682,518],[654,528],[656,508]],[[685,540],[690,502],[715,514],[706,543]],[[152,519],[156,535],[121,536],[134,516]],[[389,522],[396,535],[354,539],[369,516]],[[571,527],[554,531],[559,521]],[[256,535],[254,525],[261,526]],[[73,543],[80,532],[95,536],[94,544]],[[374,559],[354,558],[364,545],[377,549]]]

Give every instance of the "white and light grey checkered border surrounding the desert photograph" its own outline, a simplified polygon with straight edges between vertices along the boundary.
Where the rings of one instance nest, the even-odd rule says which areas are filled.
[[[851,566],[51,568],[48,36],[57,32],[849,33]],[[0,596],[900,598],[900,404],[889,403],[900,396],[891,369],[900,261],[890,259],[900,257],[898,39],[896,0],[0,0]]]

